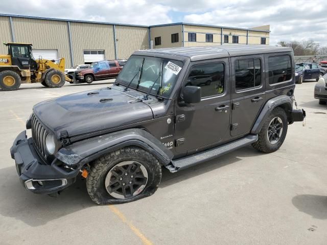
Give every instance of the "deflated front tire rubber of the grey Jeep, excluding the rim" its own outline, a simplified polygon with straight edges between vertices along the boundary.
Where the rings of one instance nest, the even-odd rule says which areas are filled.
[[[105,179],[110,169],[123,161],[137,161],[143,164],[148,172],[148,181],[139,194],[128,199],[116,199],[105,188]],[[87,192],[92,201],[99,205],[132,202],[144,197],[149,197],[158,188],[161,181],[161,166],[158,160],[149,152],[136,146],[108,153],[91,164],[91,169],[86,178]]]

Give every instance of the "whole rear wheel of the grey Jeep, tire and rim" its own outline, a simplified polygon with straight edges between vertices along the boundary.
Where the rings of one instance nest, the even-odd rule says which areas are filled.
[[[283,108],[273,109],[258,135],[253,148],[264,153],[277,151],[283,144],[288,128],[287,116]]]

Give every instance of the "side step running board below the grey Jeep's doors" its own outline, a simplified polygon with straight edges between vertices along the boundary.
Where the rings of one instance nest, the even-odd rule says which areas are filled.
[[[205,162],[221,155],[224,155],[233,150],[242,148],[245,145],[254,143],[258,140],[258,135],[248,135],[244,138],[232,141],[230,143],[218,146],[217,148],[207,150],[196,155],[192,155],[189,157],[183,157],[177,160],[172,160],[172,163],[167,166],[167,168],[173,173],[178,170],[184,169],[186,167],[190,167],[201,162]]]

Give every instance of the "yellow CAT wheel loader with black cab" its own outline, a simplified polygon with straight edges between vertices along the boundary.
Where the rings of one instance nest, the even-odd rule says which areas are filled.
[[[65,59],[34,59],[31,43],[4,43],[8,55],[0,55],[0,88],[17,90],[21,83],[41,83],[58,88],[65,81],[74,82],[64,74]]]

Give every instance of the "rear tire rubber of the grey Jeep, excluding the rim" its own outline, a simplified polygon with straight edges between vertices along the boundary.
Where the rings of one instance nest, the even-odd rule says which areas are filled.
[[[279,138],[279,140],[275,144],[272,144],[268,140],[267,131],[268,131],[268,126],[270,124],[270,121],[274,117],[277,117],[277,116],[282,119],[283,131],[282,131],[282,135]],[[258,151],[264,152],[264,153],[271,153],[271,152],[277,151],[281,147],[281,145],[283,144],[283,142],[285,140],[285,137],[287,134],[287,128],[288,128],[288,121],[287,121],[287,116],[286,116],[285,110],[281,107],[276,107],[270,113],[270,115],[266,119],[264,125],[262,126],[262,128],[259,132],[259,135],[258,135],[258,141],[256,141],[255,143],[252,143],[253,148]]]

